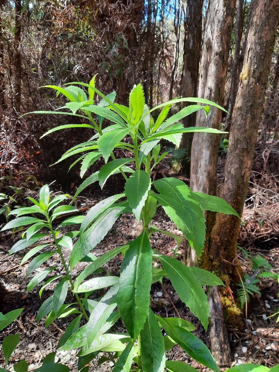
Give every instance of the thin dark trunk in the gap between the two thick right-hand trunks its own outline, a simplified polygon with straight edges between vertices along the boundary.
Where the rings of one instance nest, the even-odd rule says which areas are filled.
[[[226,124],[225,124],[226,132],[230,132],[231,114],[234,109],[235,97],[236,97],[236,92],[237,92],[237,70],[238,70],[238,64],[239,64],[240,45],[241,45],[242,27],[243,27],[243,0],[236,0],[235,8],[236,8],[235,48],[234,48],[234,59],[232,61],[232,68],[231,68],[231,87],[230,87],[229,104],[228,104],[228,112],[230,115],[227,115],[227,118],[226,118]]]

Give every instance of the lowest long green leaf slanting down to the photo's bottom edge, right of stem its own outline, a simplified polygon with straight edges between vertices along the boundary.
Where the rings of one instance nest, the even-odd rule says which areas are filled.
[[[179,344],[190,357],[211,368],[213,371],[219,371],[211,352],[198,337],[176,324],[170,324],[167,318],[162,318],[158,315],[156,315],[156,318],[160,321],[171,339]]]

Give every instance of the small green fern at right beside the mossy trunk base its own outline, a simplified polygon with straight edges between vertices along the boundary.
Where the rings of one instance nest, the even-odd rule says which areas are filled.
[[[257,254],[254,257],[242,247],[238,246],[238,249],[243,253],[247,260],[250,259],[252,263],[251,269],[253,270],[252,275],[249,276],[246,273],[243,282],[237,284],[237,298],[240,302],[241,308],[243,308],[246,301],[250,302],[250,296],[254,297],[255,294],[260,295],[260,287],[258,283],[261,279],[270,278],[274,280],[278,278],[278,274],[275,274],[272,271],[267,271],[267,269],[272,269],[272,266],[260,254]]]

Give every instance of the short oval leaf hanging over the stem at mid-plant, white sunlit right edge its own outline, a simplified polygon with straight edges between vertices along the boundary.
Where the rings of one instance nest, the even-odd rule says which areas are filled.
[[[144,207],[150,188],[150,176],[143,170],[135,171],[125,184],[125,195],[137,221],[140,220],[141,210]]]

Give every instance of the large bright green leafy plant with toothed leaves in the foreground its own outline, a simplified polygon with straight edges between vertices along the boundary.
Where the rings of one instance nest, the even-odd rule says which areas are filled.
[[[86,93],[76,86],[77,84],[87,87],[89,99],[87,99]],[[62,347],[64,350],[80,348],[78,369],[84,368],[102,351],[107,355],[102,360],[112,360],[115,372],[129,371],[130,369],[132,371],[138,369],[144,372],[159,372],[164,371],[165,366],[169,371],[182,371],[183,368],[189,366],[184,363],[179,365],[174,364],[176,362],[166,363],[165,351],[177,343],[193,359],[214,371],[218,371],[215,360],[207,347],[191,333],[195,329],[191,323],[180,318],[163,318],[153,313],[150,309],[150,289],[152,283],[164,276],[169,277],[182,301],[207,329],[209,305],[203,286],[222,285],[223,283],[217,276],[206,270],[187,267],[175,258],[161,255],[158,252],[154,253],[155,247],[151,247],[150,237],[158,229],[150,226],[150,222],[156,209],[162,206],[170,219],[183,232],[190,246],[197,251],[198,256],[201,256],[205,240],[203,211],[210,210],[238,215],[224,200],[192,192],[179,179],[170,177],[151,182],[150,175],[153,168],[166,155],[166,153],[160,154],[161,149],[158,142],[161,138],[177,144],[180,142],[182,134],[186,132],[220,133],[213,128],[184,128],[180,123],[175,124],[183,117],[198,110],[203,110],[207,115],[209,106],[190,105],[166,119],[170,105],[188,101],[222,108],[205,99],[181,98],[148,109],[140,84],[132,90],[129,97],[129,107],[126,107],[114,103],[115,92],[108,96],[99,92],[94,85],[94,78],[90,84],[72,83],[65,88],[49,87],[55,89],[57,94],[61,93],[70,100],[63,108],[71,111],[51,113],[81,117],[83,120],[89,121],[90,124],[66,124],[50,129],[47,134],[65,128],[90,128],[97,132],[93,133],[89,141],[68,150],[58,162],[71,155],[85,153],[71,165],[72,167],[81,161],[81,177],[83,177],[96,160],[101,157],[105,160],[105,165],[99,171],[91,174],[78,187],[72,202],[86,186],[93,182],[99,181],[100,187],[103,188],[106,180],[112,174],[121,173],[126,183],[123,193],[100,201],[89,210],[86,217],[75,216],[61,222],[60,226],[81,224],[79,231],[61,237],[59,235],[60,227],[54,226],[55,219],[65,213],[77,212],[71,205],[57,206],[67,196],[55,196],[51,199],[48,187],[44,186],[41,189],[39,201],[30,199],[33,206],[11,212],[16,215],[16,218],[2,230],[25,225],[31,225],[31,227],[25,233],[26,238],[17,242],[10,253],[25,249],[35,241],[39,241],[40,234],[38,232],[41,229],[46,229],[53,239],[49,245],[52,247],[51,250],[39,254],[31,261],[27,275],[46,262],[53,254],[60,256],[65,269],[64,275],[51,277],[42,286],[40,295],[48,283],[52,280],[59,280],[54,294],[47,298],[39,309],[37,320],[47,316],[47,326],[57,317],[78,314],[71,321],[58,343],[58,347]],[[102,98],[98,105],[94,105],[94,93]],[[151,113],[158,108],[162,108],[162,110],[154,122]],[[77,114],[78,110],[81,110],[83,115]],[[37,111],[35,113],[47,112]],[[98,124],[92,118],[92,113],[96,114]],[[104,119],[114,124],[103,128]],[[125,140],[126,136],[128,138]],[[129,157],[116,159],[113,154],[115,148],[126,150]],[[109,161],[110,157],[111,161]],[[126,173],[131,174],[129,178]],[[134,213],[136,220],[142,222],[142,232],[139,237],[128,242],[125,246],[116,247],[106,252],[97,259],[94,257],[93,262],[73,280],[74,266],[86,255],[91,254],[91,251],[105,237],[116,219],[122,213],[127,212]],[[40,218],[22,217],[24,214],[39,214]],[[180,236],[167,231],[161,232],[174,237],[177,244],[181,243]],[[78,240],[71,250],[70,256],[64,257],[61,246],[72,248],[72,238],[76,236],[78,236]],[[40,249],[45,248],[45,246],[32,248],[23,257],[23,262],[38,253]],[[124,255],[120,276],[96,275],[97,270],[118,253]],[[161,264],[162,268],[158,270],[156,267],[154,269],[154,262]],[[52,270],[55,268],[50,267],[36,274],[28,285],[28,291],[46,279]],[[89,279],[89,276],[92,275],[93,278]],[[76,297],[74,304],[64,303],[68,286]],[[99,301],[90,299],[90,295],[94,291],[107,287],[111,288]],[[75,307],[72,307],[73,305]],[[125,324],[127,333],[107,333],[120,317]],[[81,320],[83,325],[80,327]],[[169,337],[163,337],[161,328],[164,328]],[[112,355],[112,353],[114,354]]]

